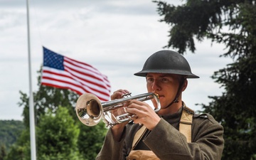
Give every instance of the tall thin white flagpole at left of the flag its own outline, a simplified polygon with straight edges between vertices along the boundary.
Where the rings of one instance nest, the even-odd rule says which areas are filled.
[[[35,113],[33,106],[33,92],[31,79],[31,46],[29,29],[29,0],[26,0],[27,26],[28,26],[28,79],[29,79],[29,127],[31,140],[31,160],[36,160],[36,132],[35,132]]]

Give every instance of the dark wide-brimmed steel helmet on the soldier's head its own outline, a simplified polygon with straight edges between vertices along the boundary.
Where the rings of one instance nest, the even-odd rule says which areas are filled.
[[[186,75],[187,78],[199,78],[191,73],[188,61],[172,50],[160,50],[152,54],[144,63],[142,70],[134,75],[146,77],[146,73],[170,73]]]

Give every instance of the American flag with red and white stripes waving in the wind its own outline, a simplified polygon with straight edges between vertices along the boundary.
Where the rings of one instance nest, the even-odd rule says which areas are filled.
[[[82,95],[92,93],[101,101],[110,100],[110,81],[87,63],[73,60],[43,47],[41,85],[65,88]]]

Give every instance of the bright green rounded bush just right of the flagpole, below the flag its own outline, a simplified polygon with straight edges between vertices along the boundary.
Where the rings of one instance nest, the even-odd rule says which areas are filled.
[[[36,129],[38,159],[78,159],[79,132],[65,107],[43,115]]]

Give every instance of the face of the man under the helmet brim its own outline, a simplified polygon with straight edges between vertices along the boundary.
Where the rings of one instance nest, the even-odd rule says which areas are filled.
[[[161,109],[167,107],[175,98],[181,76],[166,73],[148,73],[146,75],[146,88],[148,92],[159,94]],[[155,100],[152,100],[156,107]]]

